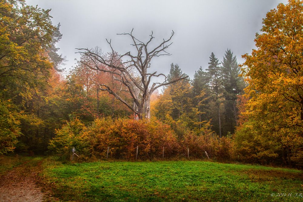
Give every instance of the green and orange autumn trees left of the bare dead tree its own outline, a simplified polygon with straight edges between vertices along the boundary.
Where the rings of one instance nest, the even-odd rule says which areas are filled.
[[[66,78],[61,75],[65,57],[55,44],[62,34],[50,10],[6,0],[0,9],[0,154],[43,154],[55,129],[73,116],[89,123],[131,114],[99,92],[101,78],[121,89],[110,76],[79,65]]]

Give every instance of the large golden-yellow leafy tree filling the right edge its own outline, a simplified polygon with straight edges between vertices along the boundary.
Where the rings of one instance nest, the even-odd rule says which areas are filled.
[[[303,162],[302,27],[303,1],[279,4],[266,14],[262,33],[256,34],[257,49],[243,55],[241,65],[250,98],[244,114],[253,120],[255,134],[281,143],[289,164]]]

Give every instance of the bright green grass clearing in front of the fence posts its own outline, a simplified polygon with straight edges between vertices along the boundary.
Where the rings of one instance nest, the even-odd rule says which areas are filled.
[[[292,169],[204,161],[47,160],[43,166],[62,201],[303,201],[295,197],[303,193],[302,171]]]

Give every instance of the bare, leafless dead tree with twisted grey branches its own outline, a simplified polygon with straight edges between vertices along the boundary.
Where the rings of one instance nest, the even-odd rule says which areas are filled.
[[[133,30],[132,30],[133,31]],[[170,42],[172,36],[174,35],[174,31],[172,31],[171,36],[168,39],[163,39],[163,41],[156,47],[149,48],[150,42],[153,40],[153,32],[151,31],[150,38],[147,42],[142,42],[134,37],[130,33],[123,33],[118,35],[128,35],[132,38],[133,44],[136,48],[136,54],[131,54],[131,52],[127,52],[122,55],[117,55],[114,49],[112,48],[111,40],[107,41],[109,46],[112,49],[112,57],[105,58],[103,55],[98,55],[88,48],[77,48],[79,50],[78,53],[84,54],[92,59],[92,61],[98,61],[102,64],[108,66],[108,69],[101,69],[99,65],[86,64],[88,67],[101,71],[111,73],[116,81],[121,82],[129,91],[132,96],[133,103],[129,104],[125,99],[119,96],[118,93],[111,89],[106,84],[100,84],[100,90],[108,91],[110,94],[114,95],[117,100],[120,100],[123,104],[125,104],[128,108],[130,108],[135,114],[138,115],[139,119],[142,119],[143,114],[145,118],[150,118],[150,96],[153,91],[161,86],[165,86],[181,79],[186,79],[187,77],[178,78],[175,80],[168,80],[168,78],[164,74],[158,74],[157,71],[153,73],[148,73],[148,68],[150,68],[151,60],[154,57],[159,57],[161,55],[171,55],[166,51],[166,49],[172,44]],[[118,56],[118,57],[114,57]],[[119,64],[117,65],[117,61]],[[132,71],[135,70],[137,72],[140,81],[136,79]],[[162,83],[153,83],[151,82],[153,77],[163,76],[165,80]]]

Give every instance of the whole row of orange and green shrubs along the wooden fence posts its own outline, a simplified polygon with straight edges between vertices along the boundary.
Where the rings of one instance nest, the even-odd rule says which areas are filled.
[[[230,138],[218,138],[211,131],[195,134],[184,130],[177,135],[169,124],[155,118],[132,120],[99,118],[90,126],[85,126],[78,118],[56,130],[50,141],[49,150],[54,154],[69,158],[72,148],[82,158],[105,158],[109,147],[109,158],[134,160],[138,146],[141,160],[187,157],[205,158],[207,152],[211,159],[230,160],[232,147]]]

